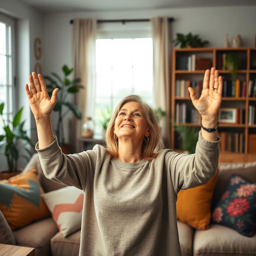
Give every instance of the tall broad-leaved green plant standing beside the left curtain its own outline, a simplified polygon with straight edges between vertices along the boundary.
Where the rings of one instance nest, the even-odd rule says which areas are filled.
[[[64,73],[63,79],[54,72],[51,72],[52,77],[44,76],[44,79],[46,80],[46,88],[50,97],[55,88],[59,89],[57,103],[53,109],[54,111],[58,112],[58,124],[55,132],[57,138],[60,139],[61,144],[64,144],[64,117],[68,114],[69,111],[72,111],[78,119],[82,119],[82,113],[78,110],[76,105],[68,102],[66,98],[68,94],[78,93],[80,89],[84,88],[84,86],[77,85],[77,83],[81,81],[80,78],[74,78],[73,80],[68,78],[68,76],[70,76],[74,71],[74,68],[68,68],[67,65],[64,65],[62,66],[62,71]]]

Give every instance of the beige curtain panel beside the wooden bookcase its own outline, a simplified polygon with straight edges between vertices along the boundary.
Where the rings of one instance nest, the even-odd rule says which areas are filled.
[[[153,38],[153,88],[155,106],[167,112],[160,126],[166,147],[171,145],[170,113],[171,113],[171,30],[168,17],[151,19]]]

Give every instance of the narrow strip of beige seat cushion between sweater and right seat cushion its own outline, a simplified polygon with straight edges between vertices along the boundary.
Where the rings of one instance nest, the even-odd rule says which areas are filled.
[[[192,256],[194,229],[179,220],[177,224],[182,256]]]

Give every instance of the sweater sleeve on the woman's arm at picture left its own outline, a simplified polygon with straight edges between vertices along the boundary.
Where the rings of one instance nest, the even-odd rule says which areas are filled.
[[[99,147],[96,145],[93,150],[65,155],[54,136],[52,144],[39,149],[37,142],[35,149],[46,178],[84,190],[87,176],[94,175]]]

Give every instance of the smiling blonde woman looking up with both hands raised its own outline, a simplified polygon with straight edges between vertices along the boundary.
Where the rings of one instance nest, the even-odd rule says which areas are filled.
[[[64,155],[50,123],[58,89],[50,99],[42,76],[35,72],[32,76],[26,93],[36,119],[36,150],[44,174],[85,193],[79,255],[181,255],[177,193],[208,182],[218,166],[216,126],[222,95],[218,71],[206,70],[199,99],[188,88],[204,126],[196,153],[190,155],[162,149],[152,109],[138,96],[128,96],[117,106],[106,132],[107,148],[96,145]]]

